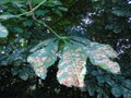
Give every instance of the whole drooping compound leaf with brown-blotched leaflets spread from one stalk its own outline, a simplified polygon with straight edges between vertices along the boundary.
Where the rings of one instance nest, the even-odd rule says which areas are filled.
[[[108,72],[120,72],[119,64],[108,59],[117,58],[117,53],[110,46],[91,42],[81,37],[70,37],[70,39],[72,39],[71,42],[67,41],[64,44],[63,53],[58,64],[57,78],[60,84],[68,87],[84,87],[87,57],[93,64]],[[35,51],[27,58],[36,74],[43,79],[46,77],[47,69],[57,61],[58,44],[53,41],[55,39],[52,38],[37,45],[35,49],[38,47],[41,47],[41,49]],[[44,45],[46,45],[46,48],[43,48]]]

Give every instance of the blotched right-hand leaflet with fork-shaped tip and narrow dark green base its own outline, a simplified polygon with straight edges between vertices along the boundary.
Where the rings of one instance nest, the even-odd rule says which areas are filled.
[[[76,36],[71,36],[70,38],[76,42],[84,45],[83,49],[85,49],[84,51],[93,64],[98,65],[111,73],[120,72],[119,64],[109,59],[118,57],[117,52],[109,45],[91,42],[86,38],[81,38]]]

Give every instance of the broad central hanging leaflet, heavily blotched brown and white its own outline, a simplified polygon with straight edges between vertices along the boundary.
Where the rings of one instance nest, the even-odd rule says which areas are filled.
[[[82,46],[76,42],[66,44],[62,58],[58,64],[57,78],[60,84],[68,87],[84,87],[86,54]]]

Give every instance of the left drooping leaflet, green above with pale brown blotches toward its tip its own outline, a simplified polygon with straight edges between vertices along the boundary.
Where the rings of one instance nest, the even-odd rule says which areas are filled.
[[[47,42],[47,40],[45,41]],[[47,69],[55,63],[57,60],[58,41],[55,41],[55,38],[49,39],[47,47],[39,49],[32,53],[27,61],[33,66],[35,73],[41,78],[45,79],[47,74]]]

